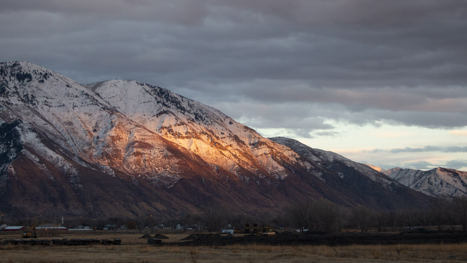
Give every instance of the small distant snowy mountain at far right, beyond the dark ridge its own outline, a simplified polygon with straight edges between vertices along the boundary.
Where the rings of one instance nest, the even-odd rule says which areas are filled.
[[[390,178],[419,192],[436,197],[467,195],[467,172],[446,168],[428,171],[402,169],[399,167],[384,171]]]

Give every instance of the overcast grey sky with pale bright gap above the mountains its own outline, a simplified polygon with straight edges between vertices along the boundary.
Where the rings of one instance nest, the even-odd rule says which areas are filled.
[[[467,171],[466,0],[0,0],[0,61],[136,79],[385,169]]]

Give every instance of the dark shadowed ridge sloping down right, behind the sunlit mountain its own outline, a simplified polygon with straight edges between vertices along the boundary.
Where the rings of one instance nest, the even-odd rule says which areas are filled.
[[[363,163],[354,162],[334,152],[311,148],[290,138],[269,139],[289,147],[306,158],[312,164],[313,169],[310,170],[312,175],[360,204],[372,203],[374,207],[384,204],[395,209],[397,206],[408,207],[415,203],[420,204],[420,200],[426,201],[425,195],[410,191],[408,187],[393,178]],[[424,206],[425,203],[420,205]]]

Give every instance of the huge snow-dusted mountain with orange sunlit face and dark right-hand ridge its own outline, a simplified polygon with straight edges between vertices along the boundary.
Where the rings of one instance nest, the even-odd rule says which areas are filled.
[[[280,213],[307,199],[395,209],[430,200],[368,166],[300,153],[133,80],[80,85],[28,62],[1,63],[0,119],[0,209],[17,216],[166,216],[209,205]]]

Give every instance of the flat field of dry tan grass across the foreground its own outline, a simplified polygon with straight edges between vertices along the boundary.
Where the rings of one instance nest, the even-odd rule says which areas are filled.
[[[17,233],[16,233],[17,235]],[[2,239],[17,238],[1,235]],[[165,234],[179,242],[186,234]],[[121,238],[122,245],[30,246],[0,245],[0,263],[353,263],[353,262],[465,262],[467,244],[270,246],[228,245],[224,247],[150,246],[138,234],[66,233],[58,238]],[[44,238],[44,237],[42,237]]]

